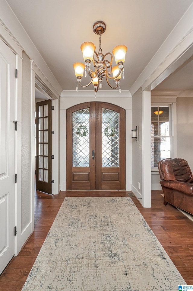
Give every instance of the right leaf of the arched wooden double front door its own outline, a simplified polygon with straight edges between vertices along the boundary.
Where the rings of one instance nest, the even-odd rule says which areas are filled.
[[[96,102],[96,189],[125,190],[125,110]]]

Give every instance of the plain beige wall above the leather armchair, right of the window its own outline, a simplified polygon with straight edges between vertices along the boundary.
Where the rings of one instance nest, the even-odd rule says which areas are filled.
[[[177,98],[177,157],[193,172],[193,97]]]

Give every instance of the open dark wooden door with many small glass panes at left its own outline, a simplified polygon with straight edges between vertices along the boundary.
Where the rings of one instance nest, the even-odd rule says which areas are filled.
[[[52,194],[52,100],[36,103],[36,190]]]

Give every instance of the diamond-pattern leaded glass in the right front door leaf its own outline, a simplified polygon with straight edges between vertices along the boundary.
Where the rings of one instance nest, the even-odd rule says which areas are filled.
[[[102,167],[119,167],[119,112],[102,108]]]

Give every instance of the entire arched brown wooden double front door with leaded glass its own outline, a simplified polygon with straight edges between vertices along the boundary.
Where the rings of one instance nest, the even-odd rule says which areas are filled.
[[[125,190],[125,110],[87,102],[66,111],[66,189]]]

